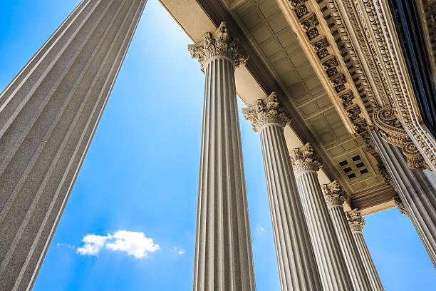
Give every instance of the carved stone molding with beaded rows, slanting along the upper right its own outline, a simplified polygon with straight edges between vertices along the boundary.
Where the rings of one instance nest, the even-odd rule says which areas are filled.
[[[352,23],[357,22],[358,25],[353,25],[355,34],[364,36],[358,37],[357,41],[365,62],[368,66],[370,63],[376,64],[376,71],[371,71],[371,75],[380,76],[385,89],[390,91],[389,100],[383,100],[383,106],[393,106],[397,110],[404,129],[425,154],[423,158],[430,168],[436,170],[436,137],[421,124],[420,108],[417,106],[388,4],[383,0],[344,0],[341,3],[346,8],[346,15],[342,14],[342,18]],[[341,14],[341,11],[338,13]],[[365,50],[368,46],[369,50]],[[377,94],[382,92],[379,89]]]

